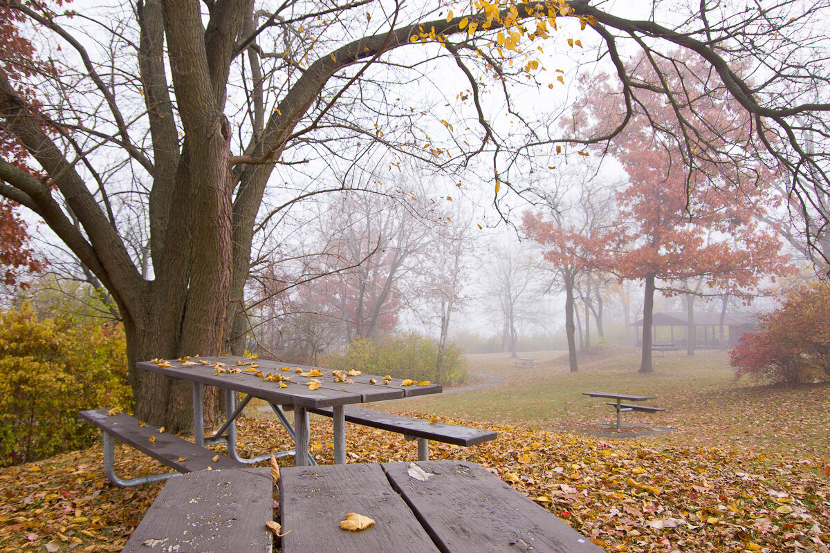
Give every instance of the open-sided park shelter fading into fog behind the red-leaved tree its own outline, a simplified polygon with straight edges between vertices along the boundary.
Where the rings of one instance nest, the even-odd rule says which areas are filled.
[[[754,313],[726,313],[721,323],[720,313],[695,313],[695,349],[731,349],[744,332],[753,332],[758,317]],[[723,325],[721,332],[721,324]],[[642,318],[631,323],[636,327],[636,345],[642,345]],[[689,340],[689,318],[686,312],[654,313],[652,342],[686,347]]]

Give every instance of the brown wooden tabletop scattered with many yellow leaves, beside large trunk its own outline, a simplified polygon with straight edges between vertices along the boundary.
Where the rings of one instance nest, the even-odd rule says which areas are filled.
[[[175,359],[141,361],[135,366],[144,371],[158,372],[172,378],[201,382],[209,386],[250,394],[276,405],[331,407],[397,400],[415,395],[438,394],[442,391],[442,386],[437,384],[403,386],[403,380],[400,378],[393,378],[384,384],[383,376],[365,374],[347,376],[347,379],[354,382],[339,382],[335,381],[329,369],[233,356],[190,357],[186,361]],[[222,372],[220,369],[225,371]],[[237,369],[238,372],[230,371]],[[323,375],[301,376],[296,372],[297,369],[306,373],[312,369],[318,369]],[[257,373],[261,376],[257,376]],[[291,376],[291,381],[284,381],[286,387],[281,387],[278,381],[264,380],[264,376],[268,374]],[[316,390],[310,390],[308,386],[311,378],[320,381],[320,387]],[[373,379],[374,382],[371,382]]]

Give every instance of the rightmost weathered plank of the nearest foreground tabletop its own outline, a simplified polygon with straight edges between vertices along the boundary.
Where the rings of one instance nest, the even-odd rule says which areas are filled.
[[[389,481],[441,551],[602,553],[573,528],[475,463],[383,463]],[[405,551],[405,550],[402,550]]]

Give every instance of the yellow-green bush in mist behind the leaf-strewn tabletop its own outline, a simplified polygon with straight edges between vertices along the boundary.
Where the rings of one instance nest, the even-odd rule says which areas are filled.
[[[466,380],[466,359],[461,356],[461,348],[453,343],[439,352],[437,342],[414,332],[380,340],[358,338],[344,352],[326,356],[321,364],[339,371],[355,369],[443,386]]]

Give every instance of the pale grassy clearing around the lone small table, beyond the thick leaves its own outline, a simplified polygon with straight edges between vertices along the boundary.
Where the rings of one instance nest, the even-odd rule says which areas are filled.
[[[789,389],[748,380],[735,382],[725,352],[657,355],[652,374],[637,372],[640,353],[627,347],[606,347],[583,355],[577,373],[569,372],[564,352],[520,352],[520,357],[536,358],[540,367],[515,368],[507,354],[468,355],[470,371],[500,376],[503,383],[486,390],[388,402],[384,408],[584,431],[613,420],[613,410],[603,400],[582,395],[583,391],[653,395],[655,399],[647,405],[666,411],[627,413],[623,422],[671,427],[672,431],[641,439],[830,458],[827,385]]]

